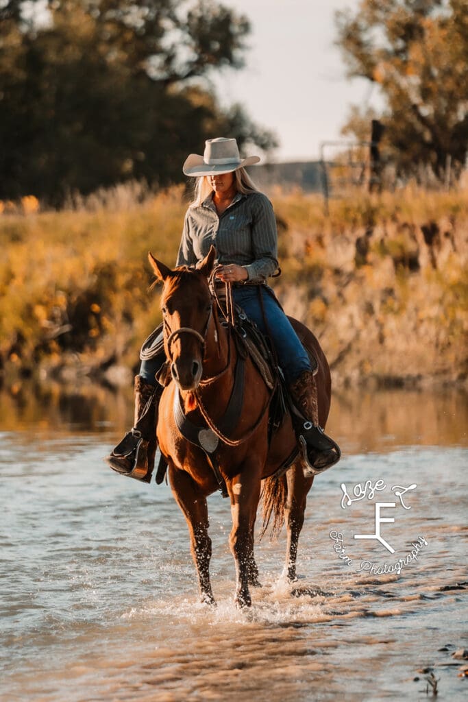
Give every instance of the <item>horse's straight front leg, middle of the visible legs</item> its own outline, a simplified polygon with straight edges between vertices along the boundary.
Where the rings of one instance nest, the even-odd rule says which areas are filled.
[[[248,585],[257,585],[258,568],[253,557],[253,529],[260,498],[260,475],[250,466],[242,475],[227,484],[231,498],[232,531],[229,546],[236,565],[237,607],[250,607],[252,599]]]

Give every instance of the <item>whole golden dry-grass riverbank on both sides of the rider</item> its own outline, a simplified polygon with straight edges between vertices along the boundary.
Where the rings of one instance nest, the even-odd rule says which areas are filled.
[[[181,188],[138,185],[41,212],[24,199],[0,213],[0,359],[38,365],[133,365],[159,321],[147,251],[175,260]],[[323,201],[270,193],[279,218],[286,310],[319,334],[338,373],[462,369],[467,333],[468,191],[356,193]],[[436,226],[428,243],[424,227]],[[424,360],[425,359],[425,360]]]

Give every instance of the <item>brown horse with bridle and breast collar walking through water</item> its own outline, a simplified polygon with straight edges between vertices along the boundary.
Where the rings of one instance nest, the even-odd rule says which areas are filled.
[[[229,545],[236,565],[234,600],[237,606],[244,607],[251,603],[249,585],[260,585],[253,555],[253,534],[262,481],[265,481],[264,515],[266,512],[269,518],[273,511],[276,526],[286,518],[286,576],[294,581],[297,541],[304,522],[307,493],[314,478],[304,477],[302,463],[297,459],[286,475],[272,478],[288,457],[294,455],[297,440],[290,416],[286,414],[269,442],[271,391],[250,357],[246,358],[243,371],[241,410],[231,423],[230,431],[220,430],[236,383],[238,351],[229,328],[220,324],[208,286],[214,259],[212,247],[196,269],[171,270],[149,254],[156,277],[163,282],[164,344],[173,378],[161,397],[156,434],[168,463],[171,489],[187,519],[201,599],[210,604],[215,600],[209,576],[211,540],[206,497],[219,487],[216,472],[225,482],[232,511]],[[328,363],[314,335],[300,322],[291,322],[302,343],[313,350],[319,363],[316,375],[319,422],[324,427],[330,408]],[[182,416],[192,425],[205,427],[206,442],[210,444],[208,452],[182,436],[175,407],[182,410]],[[206,429],[206,420],[211,430]],[[223,438],[219,439],[217,433]]]

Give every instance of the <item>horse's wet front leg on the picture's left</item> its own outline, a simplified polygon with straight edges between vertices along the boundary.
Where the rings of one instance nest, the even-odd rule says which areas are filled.
[[[187,519],[190,550],[199,578],[201,602],[216,604],[210,583],[211,539],[208,536],[208,505],[198,486],[188,473],[169,469],[171,489],[180,509]]]

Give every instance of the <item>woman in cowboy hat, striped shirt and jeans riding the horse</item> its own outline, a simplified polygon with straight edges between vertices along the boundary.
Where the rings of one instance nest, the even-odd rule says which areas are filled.
[[[207,140],[203,156],[189,155],[183,172],[197,181],[177,265],[194,266],[215,246],[216,277],[221,284],[232,284],[234,303],[272,340],[290,395],[305,420],[300,427],[305,459],[312,471],[321,472],[336,462],[337,453],[326,447],[318,429],[316,363],[311,363],[266,284],[278,270],[277,232],[272,204],[245,170],[258,161],[257,156],[241,159],[236,140],[227,138]],[[161,338],[155,343],[159,349]],[[156,374],[165,360],[161,351],[142,361],[135,378],[135,425],[106,459],[117,472],[137,479],[151,476],[154,465],[154,427],[162,392]]]

